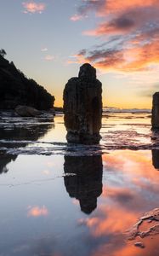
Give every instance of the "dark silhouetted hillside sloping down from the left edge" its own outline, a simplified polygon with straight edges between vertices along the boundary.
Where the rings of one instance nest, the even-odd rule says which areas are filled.
[[[48,110],[54,107],[54,96],[0,55],[0,109],[14,109],[17,105]]]

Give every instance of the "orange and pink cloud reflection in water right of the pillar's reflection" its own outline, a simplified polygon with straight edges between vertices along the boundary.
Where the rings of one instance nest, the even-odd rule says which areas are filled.
[[[107,178],[99,207],[90,217],[78,220],[79,225],[88,228],[90,236],[100,241],[93,255],[158,255],[154,253],[158,236],[153,242],[144,241],[143,251],[134,247],[135,241],[126,241],[125,236],[144,212],[158,207],[159,175],[151,165],[150,151],[119,150],[104,154],[102,159]]]

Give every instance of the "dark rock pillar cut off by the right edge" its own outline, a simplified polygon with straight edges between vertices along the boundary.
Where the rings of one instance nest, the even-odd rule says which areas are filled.
[[[153,95],[151,124],[152,128],[159,128],[159,92]]]

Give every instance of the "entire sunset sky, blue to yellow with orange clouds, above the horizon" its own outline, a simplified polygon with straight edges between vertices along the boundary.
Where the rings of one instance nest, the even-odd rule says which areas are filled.
[[[3,0],[6,58],[62,106],[83,62],[97,68],[104,106],[151,108],[159,90],[158,0]]]

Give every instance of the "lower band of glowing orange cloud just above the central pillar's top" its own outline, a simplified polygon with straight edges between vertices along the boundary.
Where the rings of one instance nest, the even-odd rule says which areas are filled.
[[[129,49],[99,49],[76,55],[78,63],[89,62],[103,71],[136,72],[150,70],[151,65],[159,65],[159,37],[143,46],[135,44]]]

